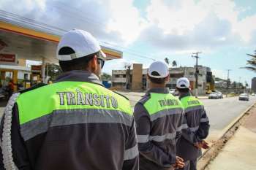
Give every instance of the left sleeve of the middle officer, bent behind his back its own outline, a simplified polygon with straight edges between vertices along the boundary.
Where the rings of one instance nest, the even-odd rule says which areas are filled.
[[[167,155],[161,148],[149,140],[151,122],[148,112],[142,104],[136,104],[134,115],[140,154],[162,167],[170,167],[171,164],[176,163],[176,158],[171,158],[170,155]]]

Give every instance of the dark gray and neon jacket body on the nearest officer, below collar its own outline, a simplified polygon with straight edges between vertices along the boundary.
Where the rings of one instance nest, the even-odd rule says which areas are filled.
[[[20,131],[15,138],[22,148],[14,158],[29,161],[32,169],[128,170],[131,163],[132,169],[138,167],[127,98],[96,83],[62,81],[20,93],[14,102],[19,123],[15,131]],[[5,145],[11,146],[10,134],[7,138]],[[10,163],[4,165],[15,167],[12,152],[5,155]]]

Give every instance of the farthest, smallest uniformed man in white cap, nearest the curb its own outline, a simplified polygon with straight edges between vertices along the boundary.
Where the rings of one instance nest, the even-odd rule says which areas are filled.
[[[184,123],[187,122],[177,142],[177,154],[184,158],[185,170],[196,170],[201,148],[208,149],[208,143],[203,139],[208,136],[209,120],[202,102],[189,93],[189,80],[186,77],[177,80],[176,89],[184,106]]]

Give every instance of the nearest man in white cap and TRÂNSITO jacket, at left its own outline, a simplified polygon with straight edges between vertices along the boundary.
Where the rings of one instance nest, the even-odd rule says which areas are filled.
[[[9,101],[1,123],[1,169],[138,170],[132,109],[99,81],[105,54],[97,39],[69,31],[57,57],[64,74],[55,83]]]

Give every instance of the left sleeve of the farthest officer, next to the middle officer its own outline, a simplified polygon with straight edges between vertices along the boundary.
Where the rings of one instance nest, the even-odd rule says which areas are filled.
[[[200,139],[195,135],[193,131],[191,131],[187,125],[187,119],[184,114],[184,119],[182,123],[182,137],[186,139],[191,144],[196,144],[197,142],[200,142]]]

